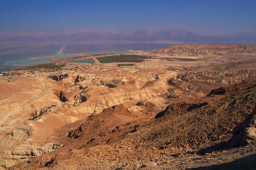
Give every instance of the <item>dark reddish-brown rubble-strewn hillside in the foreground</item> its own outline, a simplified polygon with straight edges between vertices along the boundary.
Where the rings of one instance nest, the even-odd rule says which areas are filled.
[[[111,106],[62,132],[58,141],[64,147],[11,169],[180,170],[214,164],[217,169],[225,169],[219,160],[225,163],[256,153],[252,145],[255,132],[247,136],[248,147],[228,149],[233,146],[230,142],[238,144],[233,142],[236,137],[229,139],[242,127],[233,128],[253,113],[255,98],[253,81],[212,90],[200,99],[170,104],[155,114],[133,113],[124,105]],[[248,158],[234,169],[248,169],[253,162]]]

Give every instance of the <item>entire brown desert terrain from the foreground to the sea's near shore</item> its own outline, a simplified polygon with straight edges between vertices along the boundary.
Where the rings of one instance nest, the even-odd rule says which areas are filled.
[[[0,169],[255,167],[256,45],[88,54],[2,74]]]

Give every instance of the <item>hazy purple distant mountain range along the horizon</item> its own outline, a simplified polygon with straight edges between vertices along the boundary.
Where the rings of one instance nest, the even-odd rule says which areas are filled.
[[[111,31],[76,29],[54,32],[9,31],[0,32],[0,42],[19,43],[72,43],[72,42],[182,42],[213,44],[253,44],[256,32],[208,36],[177,28],[142,29],[137,31]]]

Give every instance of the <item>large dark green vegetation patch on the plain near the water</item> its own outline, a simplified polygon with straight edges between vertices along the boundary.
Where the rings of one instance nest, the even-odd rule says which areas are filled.
[[[111,62],[143,62],[144,59],[151,57],[140,56],[140,55],[114,55],[107,57],[97,57],[99,62],[102,63],[111,63]]]

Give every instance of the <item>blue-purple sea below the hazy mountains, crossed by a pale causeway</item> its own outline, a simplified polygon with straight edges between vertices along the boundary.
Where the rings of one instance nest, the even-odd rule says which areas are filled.
[[[173,44],[172,44],[173,45]],[[116,43],[116,44],[71,44],[66,45],[58,54],[63,45],[44,46],[19,46],[0,48],[0,72],[9,71],[11,68],[27,65],[52,62],[50,59],[61,59],[66,57],[77,57],[87,54],[111,54],[132,53],[131,51],[151,51],[153,49],[165,48],[170,44],[154,43]],[[35,57],[45,58],[35,58]],[[31,59],[35,58],[35,59]],[[86,62],[86,61],[85,61]],[[89,62],[89,61],[87,61]],[[90,62],[89,62],[90,63]]]

